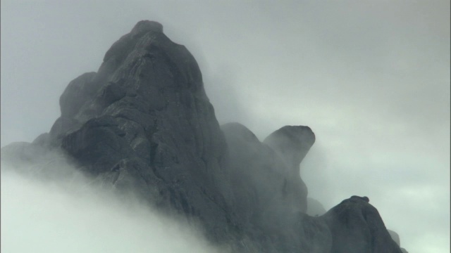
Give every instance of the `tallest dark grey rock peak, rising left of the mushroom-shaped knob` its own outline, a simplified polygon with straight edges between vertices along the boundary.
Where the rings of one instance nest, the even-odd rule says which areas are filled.
[[[202,74],[161,24],[138,22],[97,73],[70,82],[60,105],[51,140],[84,171],[204,221],[214,239],[235,229],[228,186],[221,188],[228,182],[220,165],[226,142]]]

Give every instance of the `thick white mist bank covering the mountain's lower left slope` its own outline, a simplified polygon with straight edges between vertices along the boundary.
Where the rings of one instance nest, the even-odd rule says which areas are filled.
[[[199,228],[82,176],[55,181],[1,164],[1,252],[226,252]],[[70,165],[49,168],[77,174]]]

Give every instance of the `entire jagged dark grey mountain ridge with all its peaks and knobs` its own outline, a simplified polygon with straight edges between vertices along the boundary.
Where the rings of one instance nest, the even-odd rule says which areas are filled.
[[[364,198],[305,214],[299,164],[313,131],[284,126],[261,142],[241,124],[220,127],[196,60],[158,22],[138,22],[60,105],[48,134],[2,148],[2,162],[57,175],[46,162],[69,160],[94,183],[199,222],[233,252],[400,252]]]

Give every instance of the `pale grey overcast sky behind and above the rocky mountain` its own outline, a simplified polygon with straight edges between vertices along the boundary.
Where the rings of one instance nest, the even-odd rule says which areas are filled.
[[[366,195],[409,252],[450,252],[450,1],[1,1],[1,146],[33,141],[114,41],[156,20],[221,124],[307,125],[329,209]]]

